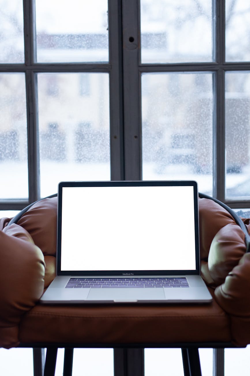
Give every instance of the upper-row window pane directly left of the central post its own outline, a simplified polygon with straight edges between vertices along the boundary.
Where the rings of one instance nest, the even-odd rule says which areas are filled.
[[[38,62],[108,61],[108,1],[36,0]]]

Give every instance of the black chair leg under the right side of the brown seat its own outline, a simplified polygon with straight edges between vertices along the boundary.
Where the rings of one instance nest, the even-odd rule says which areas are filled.
[[[190,347],[181,349],[183,358],[184,376],[202,376],[199,349]]]

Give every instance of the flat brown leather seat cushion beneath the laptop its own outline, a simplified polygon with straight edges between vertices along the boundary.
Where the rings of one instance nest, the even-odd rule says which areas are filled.
[[[213,291],[211,290],[211,294]],[[178,343],[231,340],[230,320],[208,305],[36,305],[21,320],[22,343]]]

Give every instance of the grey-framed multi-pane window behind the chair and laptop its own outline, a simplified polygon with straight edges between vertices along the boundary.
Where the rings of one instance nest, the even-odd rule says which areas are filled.
[[[0,211],[60,180],[195,179],[247,212],[248,2],[0,5]]]

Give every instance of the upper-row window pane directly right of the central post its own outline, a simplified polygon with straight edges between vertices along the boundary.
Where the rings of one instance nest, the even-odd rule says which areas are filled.
[[[211,0],[141,0],[142,63],[212,61]]]

